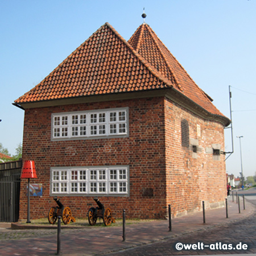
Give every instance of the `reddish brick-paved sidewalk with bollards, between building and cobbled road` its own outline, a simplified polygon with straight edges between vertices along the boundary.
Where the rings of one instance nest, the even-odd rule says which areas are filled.
[[[202,212],[174,218],[172,220],[171,232],[169,232],[167,220],[126,225],[126,241],[124,242],[122,241],[121,226],[110,225],[97,228],[61,229],[61,255],[108,254],[113,251],[121,251],[167,238],[177,238],[184,234],[226,225],[230,222],[247,218],[256,212],[254,205],[247,201],[246,209],[243,210],[242,197],[240,197],[240,203],[241,213],[238,213],[236,199],[232,202],[232,196],[228,198],[229,218],[226,218],[225,207],[206,210],[205,224],[203,224]],[[57,230],[55,234],[44,237],[37,236],[35,232],[35,238],[0,241],[0,255],[56,255],[56,251]]]

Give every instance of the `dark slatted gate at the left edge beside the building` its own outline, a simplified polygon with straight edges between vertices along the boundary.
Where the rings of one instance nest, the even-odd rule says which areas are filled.
[[[0,164],[0,222],[19,220],[22,160]]]

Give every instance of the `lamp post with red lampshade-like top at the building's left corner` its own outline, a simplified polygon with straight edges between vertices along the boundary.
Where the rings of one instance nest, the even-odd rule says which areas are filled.
[[[30,221],[30,179],[37,179],[36,171],[35,171],[35,162],[34,161],[25,161],[22,168],[22,175],[20,179],[27,178],[27,223],[31,223]]]

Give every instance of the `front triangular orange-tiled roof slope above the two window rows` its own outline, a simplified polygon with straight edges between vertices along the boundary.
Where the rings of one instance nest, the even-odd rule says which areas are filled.
[[[109,23],[100,27],[18,104],[171,87]]]

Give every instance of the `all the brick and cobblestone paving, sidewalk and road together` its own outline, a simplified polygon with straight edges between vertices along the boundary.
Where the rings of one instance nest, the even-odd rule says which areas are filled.
[[[83,229],[61,229],[60,255],[189,255],[256,253],[255,207],[246,202],[238,213],[238,205],[229,197],[229,218],[225,208],[207,210],[206,223],[202,212],[172,220],[172,232],[167,220],[126,226],[126,241],[122,241],[122,226],[98,226]],[[246,251],[211,251],[174,249],[176,242],[237,244],[245,242]],[[56,229],[10,230],[0,225],[0,255],[56,255]]]

